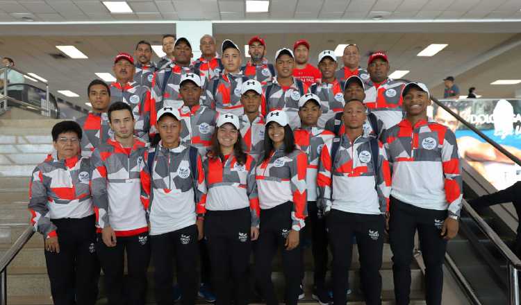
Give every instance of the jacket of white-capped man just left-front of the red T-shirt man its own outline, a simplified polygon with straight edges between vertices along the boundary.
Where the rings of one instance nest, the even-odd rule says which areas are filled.
[[[263,115],[266,115],[273,110],[283,110],[288,114],[291,129],[300,127],[299,118],[299,98],[308,93],[308,86],[293,78],[293,84],[289,87],[282,87],[277,82],[277,79],[273,79],[272,85],[269,85],[265,89],[265,94],[270,88],[270,96],[266,96],[265,106],[263,105]],[[301,89],[300,89],[301,88]]]

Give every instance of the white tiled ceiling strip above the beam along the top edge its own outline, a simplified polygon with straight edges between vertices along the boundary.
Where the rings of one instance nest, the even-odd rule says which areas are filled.
[[[0,22],[238,19],[521,19],[519,0],[270,0],[247,13],[244,0],[127,0],[133,13],[111,14],[101,0],[1,0]]]

